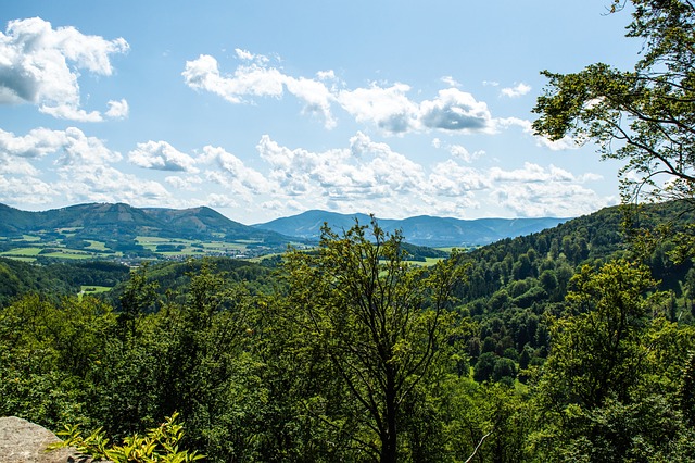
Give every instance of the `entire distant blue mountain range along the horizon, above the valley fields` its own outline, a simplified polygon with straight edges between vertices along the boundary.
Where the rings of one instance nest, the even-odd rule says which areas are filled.
[[[163,238],[251,240],[266,246],[314,241],[327,223],[334,230],[348,229],[358,221],[369,224],[365,214],[308,211],[275,221],[243,225],[205,207],[192,209],[134,208],[124,203],[89,203],[40,212],[21,211],[0,204],[0,236],[64,234],[77,239],[135,239],[136,236]],[[404,220],[382,220],[387,232],[401,229],[405,241],[428,247],[469,247],[490,243],[552,228],[567,218],[479,218],[457,220],[421,215]]]

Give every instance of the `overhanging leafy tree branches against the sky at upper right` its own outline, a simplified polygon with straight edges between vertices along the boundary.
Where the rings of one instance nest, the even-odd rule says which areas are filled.
[[[695,201],[695,4],[691,0],[630,0],[628,37],[643,40],[632,71],[604,63],[549,79],[534,112],[536,134],[592,140],[604,159],[627,161],[623,200]],[[611,12],[627,0],[614,0]]]

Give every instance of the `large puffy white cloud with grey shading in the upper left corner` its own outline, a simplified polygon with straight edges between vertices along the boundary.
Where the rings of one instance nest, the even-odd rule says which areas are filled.
[[[123,38],[106,40],[74,27],[53,29],[40,17],[11,21],[0,33],[0,104],[33,103],[54,117],[102,121],[100,112],[80,108],[79,70],[110,76],[110,57],[127,51]],[[109,111],[114,110],[110,105]]]

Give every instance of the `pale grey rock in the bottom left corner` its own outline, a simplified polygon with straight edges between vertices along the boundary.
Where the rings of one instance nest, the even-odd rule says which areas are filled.
[[[0,463],[88,463],[75,449],[46,451],[58,442],[53,433],[16,416],[0,418]]]

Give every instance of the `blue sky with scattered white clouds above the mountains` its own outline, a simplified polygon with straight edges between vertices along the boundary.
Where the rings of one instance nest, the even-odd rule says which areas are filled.
[[[0,0],[0,203],[573,217],[616,161],[535,136],[543,70],[630,68],[610,0]]]

